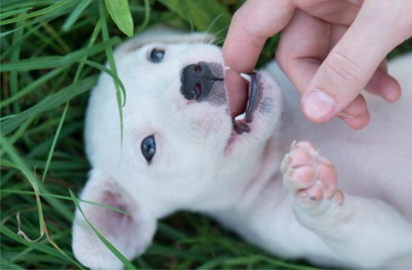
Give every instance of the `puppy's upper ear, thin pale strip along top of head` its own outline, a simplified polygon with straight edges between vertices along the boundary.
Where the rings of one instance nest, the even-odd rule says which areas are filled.
[[[122,45],[117,47],[115,54],[117,54],[117,56],[122,56],[150,43],[177,44],[204,43],[212,41],[213,37],[208,33],[187,33],[179,29],[166,27],[164,25],[157,25],[124,42]]]

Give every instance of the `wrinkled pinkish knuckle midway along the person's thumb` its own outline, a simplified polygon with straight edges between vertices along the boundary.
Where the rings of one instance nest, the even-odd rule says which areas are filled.
[[[326,58],[325,65],[343,82],[356,85],[363,84],[364,69],[355,60],[345,56],[344,53],[332,51],[330,56]]]

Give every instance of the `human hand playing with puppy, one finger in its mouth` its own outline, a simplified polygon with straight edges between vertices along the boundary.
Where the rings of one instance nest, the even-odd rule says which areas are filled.
[[[369,123],[364,88],[389,102],[400,86],[385,57],[412,36],[410,0],[249,0],[233,15],[223,45],[233,116],[247,99],[235,73],[251,72],[266,39],[283,29],[277,64],[302,94],[314,122],[339,116],[358,129]]]

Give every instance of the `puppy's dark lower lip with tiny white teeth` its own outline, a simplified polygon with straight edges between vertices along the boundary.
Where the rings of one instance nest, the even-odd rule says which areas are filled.
[[[240,76],[243,77],[248,83],[248,96],[247,105],[244,112],[232,119],[233,130],[238,135],[242,134],[243,132],[251,131],[248,123],[251,123],[253,121],[253,112],[255,112],[257,107],[259,91],[256,73],[240,73]]]

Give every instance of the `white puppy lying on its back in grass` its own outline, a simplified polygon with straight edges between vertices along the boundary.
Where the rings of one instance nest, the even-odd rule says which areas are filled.
[[[155,29],[117,49],[123,144],[104,73],[89,101],[93,169],[81,197],[132,216],[82,203],[86,217],[129,259],[150,245],[157,219],[193,210],[284,258],[412,267],[412,55],[389,64],[402,99],[367,95],[372,121],[361,131],[304,119],[275,64],[244,75],[246,114],[232,121],[222,53],[207,38]],[[87,267],[122,267],[78,211],[73,251]]]

